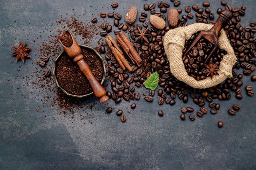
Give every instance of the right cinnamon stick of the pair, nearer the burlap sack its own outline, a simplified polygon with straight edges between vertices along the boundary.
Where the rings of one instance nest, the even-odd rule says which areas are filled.
[[[118,35],[116,35],[116,39],[131,61],[136,63],[138,67],[141,66],[142,60],[126,34],[124,32],[120,32]]]

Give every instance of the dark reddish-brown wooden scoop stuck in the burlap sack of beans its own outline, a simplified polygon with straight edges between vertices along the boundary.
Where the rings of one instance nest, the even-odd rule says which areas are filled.
[[[190,47],[187,49],[187,51],[185,52],[184,55],[187,55],[187,53],[189,51],[191,51],[191,49],[197,44],[197,42],[203,37],[205,39],[207,39],[209,42],[212,43],[213,45],[213,50],[211,51],[211,53],[207,56],[207,58],[204,61],[204,64],[208,63],[209,59],[211,58],[211,56],[213,55],[214,51],[217,49],[218,47],[218,35],[219,32],[222,28],[224,28],[229,20],[232,18],[233,14],[232,12],[230,12],[229,10],[224,10],[220,13],[219,17],[217,18],[216,23],[214,24],[214,26],[208,30],[208,31],[201,31],[196,39],[193,41],[193,43],[190,45]]]

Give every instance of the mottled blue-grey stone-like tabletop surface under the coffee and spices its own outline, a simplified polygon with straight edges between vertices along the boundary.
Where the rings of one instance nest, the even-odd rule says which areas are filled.
[[[122,2],[116,11],[121,14],[131,5],[138,6],[141,12],[145,2],[152,2],[119,1]],[[232,6],[247,6],[243,25],[255,19],[255,0],[227,1]],[[181,0],[180,7],[184,9],[186,5],[201,2]],[[211,10],[216,11],[220,0],[210,2]],[[112,114],[105,114],[105,109],[114,105],[113,101],[86,109],[87,113],[94,113],[92,124],[72,123],[71,119],[58,114],[56,106],[45,107],[47,117],[42,116],[42,91],[32,90],[32,85],[27,85],[22,78],[33,74],[34,65],[29,60],[24,64],[21,61],[9,64],[15,60],[9,55],[10,47],[19,41],[28,41],[32,46],[32,61],[38,61],[38,51],[33,50],[39,48],[40,40],[36,38],[45,29],[57,30],[51,23],[60,15],[79,15],[86,11],[83,19],[90,20],[89,11],[98,15],[103,5],[108,7],[107,12],[113,11],[110,4],[107,0],[0,0],[0,170],[256,169],[256,98],[247,97],[245,90],[242,101],[233,95],[231,101],[221,102],[217,115],[197,117],[194,122],[179,119],[180,107],[184,105],[179,100],[174,106],[159,107],[156,102],[141,99],[131,114],[125,112],[126,123],[115,113],[118,109],[130,110],[128,102],[118,104]],[[96,46],[97,42],[89,45]],[[249,79],[243,78],[243,88],[252,84]],[[255,84],[253,87],[256,89]],[[139,91],[147,93],[145,88]],[[98,100],[88,99],[83,107],[94,102]],[[242,108],[236,116],[230,116],[227,109],[235,103]],[[185,106],[190,104],[191,100]],[[162,118],[157,115],[159,109],[164,111]],[[224,121],[222,129],[217,127],[219,120]]]

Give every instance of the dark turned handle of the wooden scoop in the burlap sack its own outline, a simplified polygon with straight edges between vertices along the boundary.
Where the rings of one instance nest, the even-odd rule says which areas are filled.
[[[219,17],[217,18],[217,21],[215,22],[214,26],[211,28],[210,32],[216,34],[216,37],[218,37],[220,30],[225,26],[227,26],[232,16],[233,16],[233,13],[231,11],[229,10],[222,11]]]

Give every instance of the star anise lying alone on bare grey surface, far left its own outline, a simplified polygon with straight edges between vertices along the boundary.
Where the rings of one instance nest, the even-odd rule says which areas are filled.
[[[15,52],[11,53],[11,55],[17,55],[15,62],[17,62],[21,58],[22,62],[24,63],[25,57],[31,58],[31,56],[26,52],[26,51],[29,51],[31,47],[26,47],[26,46],[27,46],[27,43],[25,43],[22,46],[20,42],[19,47],[12,47],[15,50]]]

